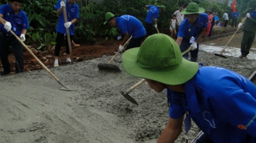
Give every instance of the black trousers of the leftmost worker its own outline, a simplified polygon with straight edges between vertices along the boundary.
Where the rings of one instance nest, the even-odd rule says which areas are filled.
[[[16,59],[15,62],[15,73],[23,72],[23,46],[14,36],[6,36],[2,33],[0,36],[0,58],[3,65],[4,72],[10,73],[10,63],[8,55],[10,46],[13,49],[13,54]]]

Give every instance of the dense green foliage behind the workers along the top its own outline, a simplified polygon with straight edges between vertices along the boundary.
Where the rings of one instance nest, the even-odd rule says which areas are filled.
[[[40,43],[45,46],[54,44],[58,21],[54,9],[56,2],[57,0],[30,0],[29,4],[22,5],[22,10],[27,13],[31,26],[28,29],[28,36],[31,38],[27,38],[26,42],[30,44]],[[103,25],[106,12],[110,11],[118,16],[132,15],[144,24],[144,18],[147,14],[145,5],[166,6],[166,10],[157,19],[157,25],[160,32],[168,34],[169,20],[173,12],[178,10],[180,4],[187,6],[190,2],[196,2],[205,10],[218,11],[220,18],[222,18],[224,11],[228,11],[231,16],[232,10],[228,6],[228,0],[223,4],[207,0],[103,0],[100,3],[93,4],[92,0],[80,0],[77,2],[80,6],[80,18],[75,23],[75,40],[84,40],[88,43],[96,42],[97,37],[108,37],[106,39],[113,40],[113,36],[117,36],[118,32],[113,32],[113,29],[108,25]],[[0,1],[0,4],[3,3],[7,3],[7,1]],[[240,18],[245,16],[247,12],[252,12],[255,7],[256,0],[236,0],[236,9],[241,13]],[[40,40],[40,37],[45,37],[45,35],[51,37],[47,40]]]

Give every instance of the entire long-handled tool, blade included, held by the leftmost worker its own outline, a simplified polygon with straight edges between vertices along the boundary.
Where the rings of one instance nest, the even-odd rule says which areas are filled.
[[[4,24],[4,22],[2,21],[2,19],[1,19],[1,23],[2,24]],[[50,75],[56,80],[56,81],[58,81],[58,83],[60,84],[60,85],[62,85],[64,88],[60,88],[60,90],[69,90],[69,91],[72,91],[72,90],[76,90],[76,89],[70,89],[70,88],[68,88],[67,86],[64,86],[63,85],[63,83],[62,82],[60,82],[60,80],[38,59],[38,57],[36,57],[35,55],[34,55],[34,53],[32,53],[32,51],[26,46],[26,44],[25,43],[23,43],[23,41],[21,41],[21,39],[12,31],[12,30],[10,30],[10,32],[11,32],[11,34],[13,35],[13,36],[15,36],[15,38],[22,44],[22,46],[23,47],[25,47],[27,50],[28,50],[28,52],[34,57],[34,59],[36,60],[36,61],[38,61],[38,63],[44,68],[44,69],[46,69],[47,70],[47,72],[48,73],[50,73]]]

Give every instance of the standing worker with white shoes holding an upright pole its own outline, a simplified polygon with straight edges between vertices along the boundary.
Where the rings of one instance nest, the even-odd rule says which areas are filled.
[[[63,2],[62,0],[58,0],[55,5],[55,9],[57,9],[56,13],[59,16],[58,24],[57,24],[57,37],[56,37],[56,45],[54,50],[54,67],[58,67],[58,57],[60,47],[62,46],[64,36],[66,35],[66,28],[69,29],[70,41],[73,40],[75,34],[75,22],[79,18],[79,7],[76,4],[77,0],[66,0]],[[68,22],[65,23],[63,9],[66,9],[66,14],[68,18]],[[68,38],[66,38],[66,62],[70,63],[70,52],[69,52],[69,44]]]

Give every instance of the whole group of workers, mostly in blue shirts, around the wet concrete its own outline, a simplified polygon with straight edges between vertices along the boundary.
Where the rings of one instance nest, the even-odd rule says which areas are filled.
[[[21,10],[23,2],[27,1],[11,0],[10,4],[3,4],[0,8],[4,23],[0,27],[1,76],[11,72],[9,46],[13,47],[17,60],[15,73],[23,72],[22,44],[10,33],[12,30],[22,41],[26,40],[29,24],[25,12]],[[75,2],[58,0],[55,6],[59,21],[54,66],[58,66],[59,49],[66,29],[69,29],[71,40],[74,35],[74,23],[79,13]],[[184,118],[193,119],[204,132],[197,142],[256,142],[256,86],[231,70],[204,67],[197,63],[198,42],[204,37],[209,23],[205,9],[199,8],[196,3],[190,3],[186,8],[180,6],[175,12],[179,28],[174,41],[169,35],[153,34],[153,28],[157,29],[156,19],[166,9],[165,6],[145,7],[148,12],[144,25],[131,15],[115,16],[111,12],[106,13],[103,24],[117,27],[124,35],[119,50],[124,51],[122,61],[126,72],[144,78],[156,92],[167,89],[169,122],[158,142],[174,142],[182,132]],[[69,12],[68,22],[64,21],[63,9]],[[184,15],[186,18],[182,19]],[[240,58],[249,54],[256,31],[256,14],[248,13],[246,16]],[[238,27],[242,28],[242,25],[240,23]],[[175,31],[175,28],[172,27],[172,30]],[[130,36],[130,44],[125,48],[124,43]],[[68,45],[66,47],[66,60],[70,62]],[[182,56],[181,53],[190,47],[190,56],[188,53]]]

